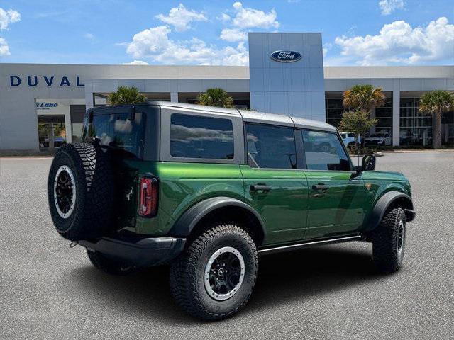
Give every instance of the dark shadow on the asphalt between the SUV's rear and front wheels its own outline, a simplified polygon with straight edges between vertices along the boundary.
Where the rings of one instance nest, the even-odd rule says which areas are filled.
[[[316,299],[378,279],[380,274],[375,271],[370,247],[358,244],[317,246],[262,256],[248,311]]]

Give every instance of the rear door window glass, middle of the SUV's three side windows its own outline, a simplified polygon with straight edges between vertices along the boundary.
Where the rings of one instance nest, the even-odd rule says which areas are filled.
[[[295,137],[292,128],[246,124],[250,166],[296,169]]]

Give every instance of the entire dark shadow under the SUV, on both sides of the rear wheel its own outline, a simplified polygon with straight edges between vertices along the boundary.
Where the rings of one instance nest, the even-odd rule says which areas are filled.
[[[379,277],[370,249],[339,245],[261,256],[254,293],[243,313],[270,310],[289,302],[323,297],[333,290]],[[194,324],[170,295],[168,268],[156,267],[131,276],[109,276],[87,262],[74,271],[72,289],[99,305],[144,315],[165,324]],[[80,290],[84,290],[83,292]],[[118,311],[120,312],[120,311]]]

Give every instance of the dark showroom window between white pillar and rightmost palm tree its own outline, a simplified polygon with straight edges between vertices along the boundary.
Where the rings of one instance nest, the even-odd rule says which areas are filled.
[[[400,145],[431,145],[432,116],[418,112],[419,98],[400,100]]]

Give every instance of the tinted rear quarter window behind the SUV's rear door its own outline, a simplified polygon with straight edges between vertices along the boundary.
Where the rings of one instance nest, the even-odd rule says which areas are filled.
[[[233,125],[223,118],[172,114],[172,157],[233,159]]]

